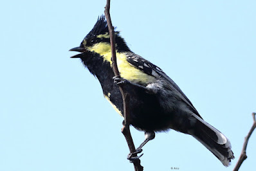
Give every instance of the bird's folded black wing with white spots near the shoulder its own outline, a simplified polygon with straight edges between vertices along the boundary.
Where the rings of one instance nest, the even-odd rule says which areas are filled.
[[[192,105],[190,100],[188,100],[187,96],[181,91],[181,89],[179,89],[178,85],[171,78],[169,78],[169,76],[167,76],[163,72],[163,70],[160,69],[160,67],[155,66],[154,64],[152,64],[148,60],[145,60],[145,58],[140,57],[139,55],[136,55],[134,53],[127,53],[126,55],[127,55],[127,61],[132,66],[142,70],[144,73],[147,73],[147,75],[151,75],[151,76],[154,76],[154,77],[156,77],[160,80],[163,80],[163,82],[165,82],[165,84],[167,85],[167,87],[171,91],[175,91],[179,95],[181,100],[183,100],[183,102],[185,102],[188,106],[190,106],[193,113],[197,114],[197,116],[202,118],[199,115],[199,113],[197,112],[194,105]]]

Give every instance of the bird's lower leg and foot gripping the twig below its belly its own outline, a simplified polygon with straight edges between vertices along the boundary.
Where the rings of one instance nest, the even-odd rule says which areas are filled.
[[[133,154],[138,154],[142,152],[142,147],[149,142],[150,140],[153,140],[154,137],[156,136],[156,134],[154,132],[145,132],[145,140],[142,142],[142,144],[135,150],[135,152],[131,152],[130,154],[128,154],[127,159],[129,159],[131,162],[135,161],[136,159],[139,159],[140,157],[142,157],[142,155],[140,156],[136,156],[133,157]]]

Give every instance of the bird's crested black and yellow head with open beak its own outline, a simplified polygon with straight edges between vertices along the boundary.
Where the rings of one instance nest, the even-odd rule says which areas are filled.
[[[130,51],[125,41],[120,37],[119,32],[115,31],[116,51]],[[98,17],[93,29],[82,40],[80,46],[69,51],[81,52],[71,58],[81,58],[83,61],[91,60],[95,56],[104,56],[111,53],[110,36],[107,28],[105,16]]]

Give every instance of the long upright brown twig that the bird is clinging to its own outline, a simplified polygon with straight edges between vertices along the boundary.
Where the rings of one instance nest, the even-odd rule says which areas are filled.
[[[117,63],[116,63],[116,48],[115,48],[115,39],[114,39],[114,28],[111,22],[111,17],[110,17],[110,0],[107,0],[107,4],[105,5],[105,17],[107,19],[107,26],[109,28],[109,35],[110,35],[110,44],[111,44],[111,53],[112,53],[112,66],[113,66],[113,72],[115,76],[120,76],[120,73],[118,71]],[[125,136],[125,140],[127,141],[127,145],[129,147],[130,152],[135,152],[135,146],[133,143],[133,138],[131,136],[130,132],[130,114],[129,114],[129,94],[124,93],[123,91],[123,86],[122,84],[118,84],[120,92],[122,94],[123,98],[123,117],[124,117],[124,122],[123,122],[123,128],[122,128],[122,133],[123,136]],[[134,154],[133,156],[137,156],[137,154]],[[134,165],[134,170],[135,171],[142,171],[143,167],[140,165],[140,159],[136,160],[133,162]]]

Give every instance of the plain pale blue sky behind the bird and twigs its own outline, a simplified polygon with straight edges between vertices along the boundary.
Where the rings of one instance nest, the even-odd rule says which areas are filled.
[[[0,171],[133,170],[122,118],[68,51],[104,13],[100,1],[0,5]],[[114,26],[230,139],[225,168],[176,131],[143,148],[145,170],[232,170],[256,111],[256,1],[111,1]],[[132,129],[136,146],[143,132]],[[255,167],[256,132],[241,170]]]

